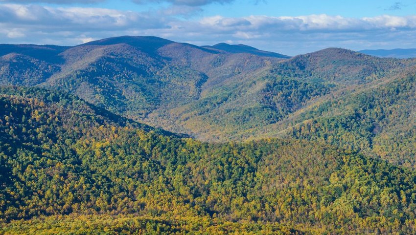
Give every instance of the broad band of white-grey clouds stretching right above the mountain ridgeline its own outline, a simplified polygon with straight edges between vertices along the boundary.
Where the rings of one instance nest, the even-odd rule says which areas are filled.
[[[181,2],[192,5],[208,0]],[[184,20],[174,16],[181,8],[164,9],[163,14],[158,11],[0,4],[0,42],[73,45],[120,35],[154,35],[196,44],[246,43],[290,55],[330,46],[416,47],[416,16],[358,19],[323,14]]]

